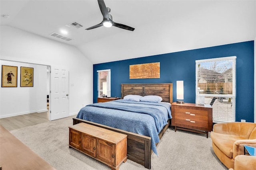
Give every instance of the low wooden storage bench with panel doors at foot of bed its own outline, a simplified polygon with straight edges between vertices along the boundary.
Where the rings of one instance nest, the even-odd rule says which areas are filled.
[[[127,135],[78,123],[69,127],[69,147],[118,170],[127,160]]]

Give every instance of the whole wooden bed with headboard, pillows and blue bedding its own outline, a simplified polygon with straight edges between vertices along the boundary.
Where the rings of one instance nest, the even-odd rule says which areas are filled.
[[[142,101],[124,100],[134,95]],[[156,145],[170,125],[172,83],[121,84],[121,98],[83,107],[73,124],[84,122],[128,135],[128,159],[150,169],[151,153],[157,154]]]

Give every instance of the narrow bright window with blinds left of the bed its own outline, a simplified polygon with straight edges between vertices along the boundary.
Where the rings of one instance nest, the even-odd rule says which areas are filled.
[[[110,69],[98,70],[98,97],[111,96]]]

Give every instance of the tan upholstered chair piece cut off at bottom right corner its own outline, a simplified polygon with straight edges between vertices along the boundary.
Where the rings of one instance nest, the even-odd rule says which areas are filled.
[[[255,170],[256,156],[238,155],[235,158],[235,170]]]

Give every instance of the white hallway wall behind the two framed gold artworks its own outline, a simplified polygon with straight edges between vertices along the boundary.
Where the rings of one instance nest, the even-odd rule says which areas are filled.
[[[14,77],[17,78],[17,87],[2,87],[0,90],[0,118],[47,111],[46,66],[12,61],[0,61],[0,65],[18,66]],[[20,87],[20,66],[34,68],[33,87]]]

